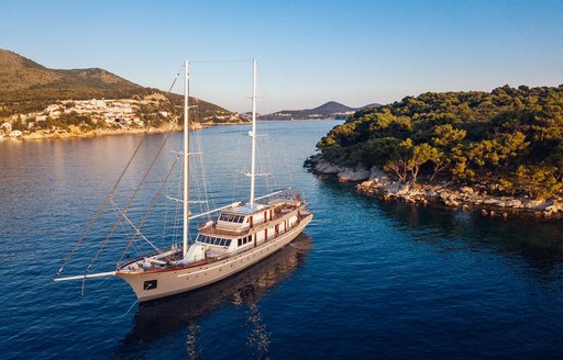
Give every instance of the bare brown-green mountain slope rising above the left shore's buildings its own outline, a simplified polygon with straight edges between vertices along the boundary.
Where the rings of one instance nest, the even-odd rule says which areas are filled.
[[[140,99],[152,93],[166,95],[173,110],[184,103],[180,95],[142,87],[103,69],[49,69],[13,52],[0,49],[0,116],[38,111],[62,100]],[[197,103],[201,122],[243,120],[216,104],[191,98],[190,102]]]

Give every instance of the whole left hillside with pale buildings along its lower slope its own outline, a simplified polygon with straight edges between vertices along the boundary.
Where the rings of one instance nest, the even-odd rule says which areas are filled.
[[[48,69],[0,49],[0,138],[66,137],[181,126],[178,94],[144,88],[103,69]],[[247,119],[206,101],[196,104],[196,127]],[[179,126],[176,126],[179,124]]]

